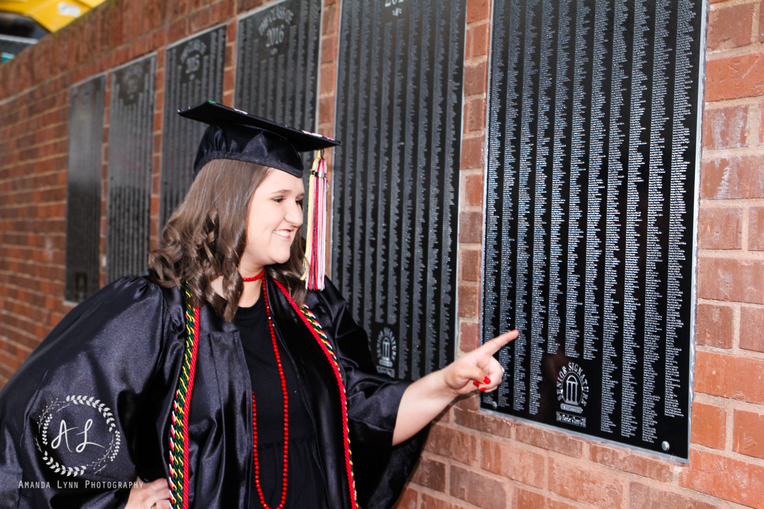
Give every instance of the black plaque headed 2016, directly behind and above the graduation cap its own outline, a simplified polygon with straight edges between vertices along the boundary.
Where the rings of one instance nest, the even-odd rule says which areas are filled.
[[[321,0],[284,0],[241,18],[238,109],[315,130],[321,6]],[[309,168],[311,154],[303,154],[303,162]]]

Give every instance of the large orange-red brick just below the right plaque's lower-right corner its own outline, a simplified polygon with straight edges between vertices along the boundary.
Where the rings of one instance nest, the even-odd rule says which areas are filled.
[[[689,468],[679,478],[682,487],[751,507],[764,501],[764,467],[713,452],[690,449]]]

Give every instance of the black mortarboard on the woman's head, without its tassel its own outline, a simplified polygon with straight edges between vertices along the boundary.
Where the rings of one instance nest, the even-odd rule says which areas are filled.
[[[244,160],[303,177],[297,152],[338,145],[338,141],[290,128],[213,101],[202,102],[178,114],[209,124],[193,164],[194,178],[213,159]]]

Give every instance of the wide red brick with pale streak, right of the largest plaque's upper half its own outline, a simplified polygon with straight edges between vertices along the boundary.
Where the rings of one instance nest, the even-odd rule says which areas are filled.
[[[701,198],[764,198],[764,157],[720,157],[701,170]]]

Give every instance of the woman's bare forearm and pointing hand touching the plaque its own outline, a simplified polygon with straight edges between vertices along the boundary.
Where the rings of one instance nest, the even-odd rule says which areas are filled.
[[[494,354],[516,337],[516,330],[497,336],[406,387],[398,406],[393,446],[419,433],[459,394],[494,391],[504,373]]]

